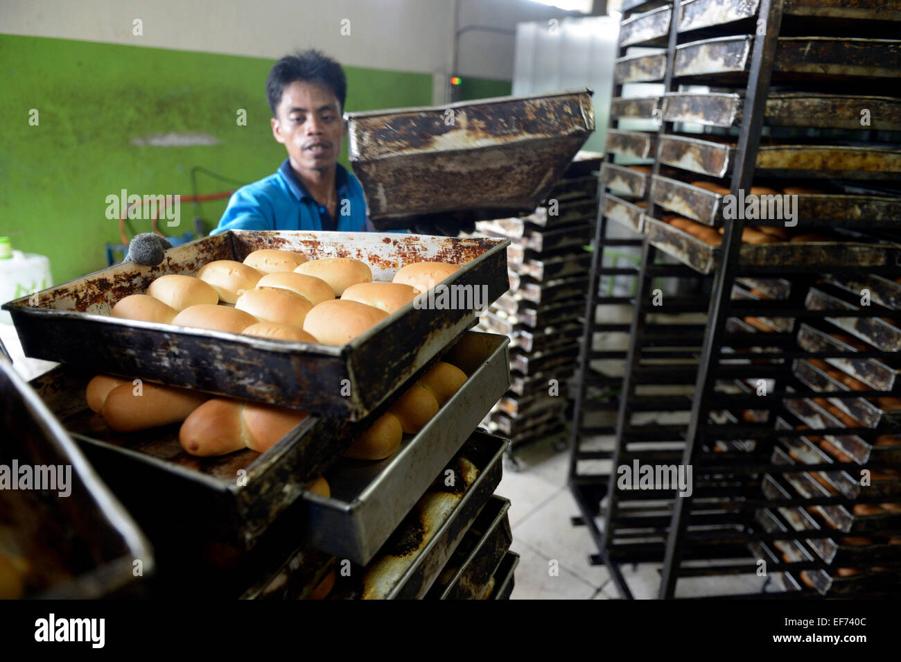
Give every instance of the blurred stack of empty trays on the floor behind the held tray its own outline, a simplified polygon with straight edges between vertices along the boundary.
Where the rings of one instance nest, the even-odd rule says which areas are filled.
[[[505,237],[510,290],[482,314],[479,328],[510,338],[510,390],[486,419],[510,452],[561,438],[568,382],[576,370],[585,316],[600,155],[579,152],[547,199],[526,216],[481,221],[478,234]]]

